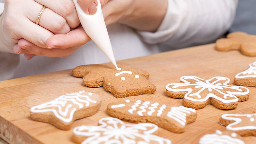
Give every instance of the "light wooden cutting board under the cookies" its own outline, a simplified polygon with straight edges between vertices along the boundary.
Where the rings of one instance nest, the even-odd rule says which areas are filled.
[[[209,79],[214,76],[225,76],[233,82],[234,76],[248,68],[248,64],[256,61],[256,57],[247,57],[238,51],[219,52],[214,44],[180,49],[140,58],[123,60],[131,66],[141,68],[150,73],[150,81],[157,90],[152,95],[140,95],[115,98],[103,87],[89,88],[82,84],[82,78],[72,76],[71,70],[58,71],[0,82],[0,136],[9,143],[45,143],[45,144],[73,144],[72,129],[80,125],[97,125],[98,120],[108,117],[106,105],[113,101],[150,100],[163,102],[168,106],[182,105],[182,99],[170,98],[166,95],[165,86],[179,82],[184,75],[199,76]],[[75,66],[74,66],[75,67]],[[168,138],[172,144],[198,143],[199,139],[217,129],[223,131],[225,127],[219,124],[222,114],[256,113],[256,88],[250,89],[250,98],[239,102],[237,109],[220,110],[213,105],[197,110],[197,119],[185,128],[181,134],[172,133],[159,128],[158,135]],[[95,115],[76,120],[72,129],[63,131],[51,124],[33,121],[29,117],[32,106],[47,102],[65,93],[81,90],[97,93],[102,97],[102,105]],[[244,137],[246,143],[256,141],[255,136]]]

